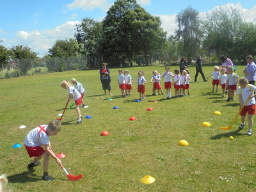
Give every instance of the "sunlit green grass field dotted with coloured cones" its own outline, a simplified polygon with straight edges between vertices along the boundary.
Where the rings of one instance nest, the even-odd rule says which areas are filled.
[[[238,68],[237,74],[243,76],[243,67]],[[172,100],[166,100],[165,94],[150,96],[152,84],[148,83],[147,99],[134,102],[139,97],[135,79],[140,69],[147,81],[152,70],[164,72],[164,67],[129,68],[133,90],[131,97],[122,98],[117,69],[111,68],[113,100],[102,96],[99,70],[1,79],[0,174],[8,175],[8,186],[13,191],[256,191],[255,136],[247,136],[247,126],[238,132],[239,121],[230,131],[218,128],[227,126],[236,115],[237,95],[235,102],[227,103],[221,91],[210,93],[211,80],[204,83],[198,77],[198,83],[191,81],[190,96]],[[209,76],[212,67],[204,67],[204,72]],[[193,79],[195,67],[190,73]],[[83,124],[75,125],[76,111],[68,110],[51,144],[56,154],[67,154],[61,161],[68,171],[83,178],[71,182],[51,159],[49,174],[56,180],[47,183],[41,180],[42,165],[28,172],[25,147],[12,146],[23,145],[26,134],[37,125],[58,118],[67,100],[60,83],[72,77],[86,88],[89,108],[82,108],[81,113],[92,119],[83,118]],[[212,115],[214,111],[221,116]],[[129,121],[130,116],[137,120]],[[202,127],[202,122],[210,122],[211,127]],[[28,127],[18,129],[20,125]],[[101,131],[108,131],[109,136],[100,136]],[[187,140],[189,146],[179,147],[179,140]],[[156,182],[142,184],[145,175]]]

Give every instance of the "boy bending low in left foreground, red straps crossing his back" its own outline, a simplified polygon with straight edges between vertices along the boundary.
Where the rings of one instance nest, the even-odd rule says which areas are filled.
[[[33,168],[34,166],[40,164],[38,160],[44,157],[43,180],[54,180],[48,175],[49,156],[55,159],[58,165],[61,165],[60,159],[55,156],[54,152],[52,152],[51,143],[49,141],[49,137],[56,135],[60,130],[61,123],[57,122],[56,120],[51,121],[49,125],[39,125],[35,129],[29,131],[24,141],[29,157],[34,157],[31,163],[28,164],[28,168]],[[41,146],[44,146],[44,148]]]

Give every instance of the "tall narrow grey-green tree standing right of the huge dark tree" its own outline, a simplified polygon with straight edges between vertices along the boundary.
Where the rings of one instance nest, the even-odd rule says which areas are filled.
[[[194,57],[198,53],[203,35],[198,11],[188,7],[176,16],[176,22],[178,29],[175,33],[182,43],[183,56]]]

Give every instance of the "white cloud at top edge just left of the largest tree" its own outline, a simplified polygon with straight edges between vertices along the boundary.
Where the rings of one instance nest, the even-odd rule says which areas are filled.
[[[75,0],[73,3],[67,5],[68,9],[75,10],[82,8],[83,10],[93,10],[95,8],[102,8],[106,10],[111,4],[107,0]]]

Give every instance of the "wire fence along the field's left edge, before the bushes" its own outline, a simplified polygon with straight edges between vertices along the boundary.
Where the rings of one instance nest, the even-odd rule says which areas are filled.
[[[48,72],[61,72],[88,68],[86,56],[71,56],[62,58],[14,59],[0,63],[0,78],[8,79],[20,76],[33,76]]]

